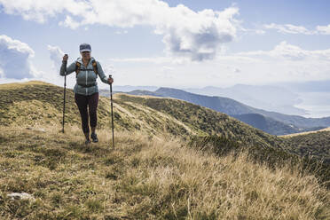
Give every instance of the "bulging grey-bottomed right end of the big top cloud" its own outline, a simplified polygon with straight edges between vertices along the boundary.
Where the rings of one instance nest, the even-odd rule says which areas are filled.
[[[214,59],[216,53],[221,51],[221,44],[231,42],[236,35],[233,17],[238,13],[237,8],[196,13],[178,5],[175,12],[177,18],[170,24],[160,24],[157,33],[164,35],[167,51],[179,57]]]

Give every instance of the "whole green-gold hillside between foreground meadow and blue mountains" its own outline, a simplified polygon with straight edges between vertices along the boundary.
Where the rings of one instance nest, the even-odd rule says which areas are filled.
[[[0,123],[5,126],[57,126],[62,122],[63,88],[43,82],[0,85]],[[73,90],[67,90],[66,125],[80,126],[80,114],[75,106]],[[100,96],[98,128],[111,130],[110,100]],[[168,134],[177,138],[199,135],[219,135],[239,144],[284,150],[306,155],[299,143],[288,143],[257,130],[227,114],[174,98],[114,95],[115,130],[141,131],[146,135]],[[324,152],[324,157],[330,153]],[[308,152],[319,158],[319,152]]]

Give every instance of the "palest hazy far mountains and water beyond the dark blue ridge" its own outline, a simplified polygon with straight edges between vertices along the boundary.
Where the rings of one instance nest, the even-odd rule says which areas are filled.
[[[205,96],[232,98],[240,103],[280,114],[294,114],[304,117],[327,117],[330,111],[330,81],[304,83],[277,83],[272,85],[236,84],[231,87],[206,86],[203,88],[177,88]],[[156,86],[117,86],[113,90],[155,91]]]

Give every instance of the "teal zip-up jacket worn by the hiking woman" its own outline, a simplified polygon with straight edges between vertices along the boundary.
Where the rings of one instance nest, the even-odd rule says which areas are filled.
[[[77,94],[89,96],[95,92],[98,92],[98,83],[97,83],[98,75],[103,83],[109,84],[109,83],[107,83],[108,77],[106,77],[106,75],[103,72],[103,69],[102,69],[101,65],[98,63],[98,61],[96,61],[97,66],[98,66],[98,75],[96,75],[94,73],[94,69],[91,64],[93,59],[94,58],[90,58],[90,62],[88,63],[87,67],[83,66],[83,60],[81,58],[78,58],[76,60],[82,64],[80,66],[80,72],[75,79],[76,83],[75,83],[74,92]],[[60,70],[59,70],[59,75],[64,76],[64,75],[69,75],[71,73],[74,73],[75,72],[75,62],[73,62],[72,64],[70,64],[67,67],[67,72],[66,72],[67,62],[62,62],[62,66],[60,67]],[[90,84],[94,84],[94,83],[95,83],[95,85],[91,86],[91,87],[81,86],[81,85],[90,85]]]

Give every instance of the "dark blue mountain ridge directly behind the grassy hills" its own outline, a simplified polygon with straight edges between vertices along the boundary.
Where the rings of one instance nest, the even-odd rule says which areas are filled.
[[[272,135],[319,130],[330,126],[330,117],[304,118],[298,115],[279,114],[244,105],[232,98],[209,97],[193,94],[185,90],[160,88],[155,91],[133,90],[128,93],[132,95],[182,99],[200,106],[206,106],[224,114],[229,114],[241,122],[246,122]]]

